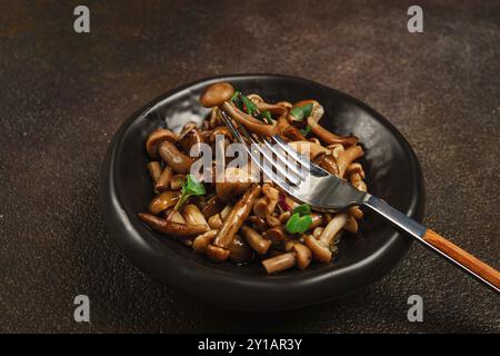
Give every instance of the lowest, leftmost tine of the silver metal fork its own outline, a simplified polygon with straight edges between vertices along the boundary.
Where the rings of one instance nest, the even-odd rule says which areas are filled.
[[[246,151],[250,155],[250,157],[253,159],[253,161],[257,164],[257,166],[259,166],[259,168],[260,168],[260,169],[261,169],[261,170],[262,170],[262,171],[263,171],[271,180],[273,180],[276,184],[278,184],[282,189],[288,190],[288,191],[290,191],[290,192],[293,190],[293,187],[291,187],[289,184],[287,184],[287,181],[286,181],[284,179],[282,179],[282,177],[287,177],[292,184],[294,184],[294,185],[297,185],[297,186],[300,184],[300,180],[299,180],[299,181],[292,181],[292,179],[291,179],[288,175],[283,174],[283,172],[281,172],[283,176],[280,177],[279,175],[274,174],[274,171],[271,169],[271,167],[269,167],[268,165],[262,165],[262,164],[260,162],[259,156],[256,155],[256,154],[251,150],[251,148],[250,148],[249,146],[247,146],[247,144],[244,142],[243,137],[242,137],[241,134],[238,131],[238,129],[234,127],[234,125],[232,123],[231,119],[229,119],[229,118],[227,117],[226,112],[222,112],[222,119],[224,120],[226,125],[229,127],[229,129],[231,130],[231,132],[234,135],[234,137],[243,145]],[[250,134],[247,131],[247,129],[246,129],[244,127],[242,127],[242,126],[240,126],[240,128],[241,128],[241,131],[243,132],[243,136],[244,136],[251,144],[254,144],[253,147],[256,147],[256,149],[259,150],[259,151],[262,154],[262,156],[269,157],[269,156],[267,155],[267,152],[263,152],[263,151],[260,149],[258,142],[257,142],[256,140],[253,140],[253,138],[250,136]],[[269,159],[269,158],[267,158],[267,159],[268,159],[269,164],[272,166],[272,159]],[[282,168],[282,167],[279,167],[279,166],[274,166],[274,167],[277,168],[277,170],[280,170],[280,168]],[[281,170],[281,171],[282,171],[282,170]]]

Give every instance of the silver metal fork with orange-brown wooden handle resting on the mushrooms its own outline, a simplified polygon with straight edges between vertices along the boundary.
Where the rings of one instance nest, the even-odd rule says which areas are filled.
[[[500,273],[491,266],[392,208],[386,201],[330,175],[288,146],[279,136],[272,136],[271,139],[267,137],[256,139],[242,125],[238,125],[237,128],[226,112],[221,113],[232,135],[243,144],[246,151],[264,175],[297,200],[322,211],[339,211],[351,206],[366,206],[494,291],[500,293]]]

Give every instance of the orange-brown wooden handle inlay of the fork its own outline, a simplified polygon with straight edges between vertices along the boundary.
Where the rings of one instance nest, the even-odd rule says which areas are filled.
[[[474,274],[484,278],[497,288],[500,288],[500,273],[493,267],[479,260],[468,251],[461,249],[453,243],[450,243],[444,237],[432,231],[431,229],[428,229],[426,231],[426,234],[423,235],[423,240],[439,249],[441,253],[457,260],[461,265],[466,266]]]

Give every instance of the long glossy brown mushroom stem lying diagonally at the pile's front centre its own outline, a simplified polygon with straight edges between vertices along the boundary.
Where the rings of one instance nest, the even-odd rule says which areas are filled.
[[[253,204],[261,192],[259,185],[252,185],[244,195],[238,200],[238,202],[232,208],[228,218],[224,220],[219,235],[217,236],[213,245],[222,248],[228,248],[234,238],[236,233],[243,225],[244,220],[249,216]]]

